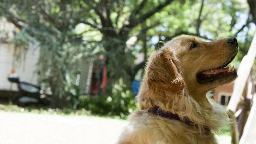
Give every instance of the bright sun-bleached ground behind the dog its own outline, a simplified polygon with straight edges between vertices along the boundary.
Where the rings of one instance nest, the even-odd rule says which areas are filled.
[[[111,144],[127,121],[0,111],[1,144]],[[228,144],[230,137],[219,138]]]

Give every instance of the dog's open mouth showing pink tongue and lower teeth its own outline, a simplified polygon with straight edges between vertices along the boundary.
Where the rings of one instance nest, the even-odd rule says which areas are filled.
[[[210,83],[215,80],[224,78],[228,75],[235,75],[237,76],[237,69],[233,66],[231,67],[229,63],[234,59],[235,57],[232,57],[229,62],[227,62],[225,65],[218,67],[216,69],[211,69],[211,70],[206,70],[203,71],[202,73],[199,73],[197,75],[197,81],[200,84],[203,83]],[[227,66],[228,65],[228,66]],[[227,67],[226,67],[227,66]]]

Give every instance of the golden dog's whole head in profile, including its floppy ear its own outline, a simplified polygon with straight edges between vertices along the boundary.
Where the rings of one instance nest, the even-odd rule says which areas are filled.
[[[198,100],[209,90],[232,82],[236,69],[225,67],[237,52],[234,37],[211,42],[181,37],[167,42],[149,58],[138,95],[141,108],[151,108],[155,101],[166,101],[167,93],[184,90]]]

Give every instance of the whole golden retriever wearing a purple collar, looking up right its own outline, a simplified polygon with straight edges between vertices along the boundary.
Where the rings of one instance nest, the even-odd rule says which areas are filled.
[[[118,144],[217,143],[230,119],[206,94],[237,78],[229,65],[237,52],[234,37],[181,37],[151,53],[136,97],[141,110],[128,117]]]

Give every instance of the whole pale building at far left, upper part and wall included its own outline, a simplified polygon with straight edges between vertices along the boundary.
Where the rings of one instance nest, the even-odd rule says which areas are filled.
[[[13,38],[15,26],[0,18],[0,96],[7,95],[6,91],[17,91],[17,84],[8,81],[11,69],[19,75],[20,81],[37,84],[37,62],[39,58],[38,45],[30,45],[25,55],[19,60],[14,57],[14,45],[8,42]]]

